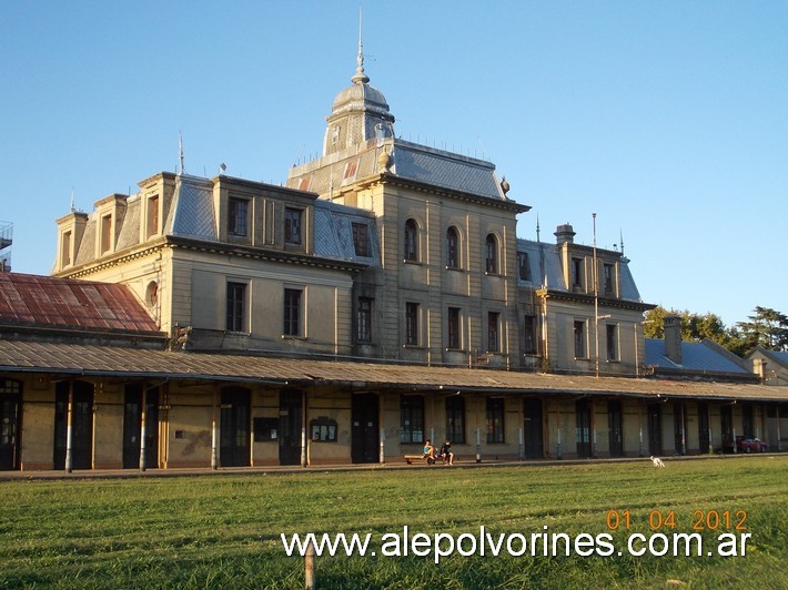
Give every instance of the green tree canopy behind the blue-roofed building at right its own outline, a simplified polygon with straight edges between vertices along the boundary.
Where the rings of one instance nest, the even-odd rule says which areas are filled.
[[[710,312],[695,314],[687,309],[666,309],[657,306],[646,312],[643,334],[646,338],[665,337],[665,317],[681,319],[681,339],[696,342],[709,338],[738,356],[746,356],[756,346],[767,350],[788,350],[788,316],[769,307],[756,306],[749,322],[726,326]]]

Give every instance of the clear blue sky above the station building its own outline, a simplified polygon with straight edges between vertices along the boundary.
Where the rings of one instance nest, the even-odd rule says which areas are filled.
[[[0,3],[0,220],[48,274],[55,223],[175,172],[283,183],[355,71],[358,2]],[[518,233],[625,253],[644,301],[788,313],[788,2],[364,3],[404,139],[493,161]]]

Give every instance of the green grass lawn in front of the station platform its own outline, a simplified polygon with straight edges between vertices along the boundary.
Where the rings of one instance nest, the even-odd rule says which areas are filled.
[[[0,502],[0,588],[303,588],[282,532],[372,533],[375,557],[317,558],[321,588],[788,588],[788,457],[12,480]],[[721,532],[750,533],[746,556],[381,555],[381,538],[404,526],[455,538],[481,526],[494,538],[610,532],[619,549],[655,532],[649,515],[668,537],[700,520],[704,553]]]

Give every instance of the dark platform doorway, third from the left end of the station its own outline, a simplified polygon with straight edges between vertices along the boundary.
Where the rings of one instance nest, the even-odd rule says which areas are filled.
[[[142,448],[142,384],[125,386],[123,401],[123,468],[140,467]],[[145,390],[145,468],[159,467],[159,388]]]

